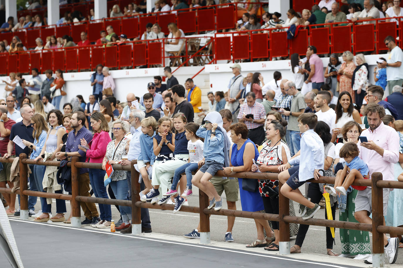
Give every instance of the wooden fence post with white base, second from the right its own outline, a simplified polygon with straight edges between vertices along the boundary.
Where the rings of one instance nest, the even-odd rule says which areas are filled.
[[[279,233],[280,233],[280,242],[279,242],[279,253],[281,255],[290,254],[290,223],[284,221],[284,216],[290,215],[290,201],[287,197],[281,194],[281,186],[283,184],[278,181],[278,220],[279,220]]]

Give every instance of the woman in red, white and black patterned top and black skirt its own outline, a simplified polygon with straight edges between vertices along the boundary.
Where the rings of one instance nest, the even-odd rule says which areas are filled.
[[[266,137],[270,140],[260,150],[258,156],[258,164],[261,166],[252,165],[252,171],[259,170],[260,172],[278,173],[278,166],[286,164],[291,159],[290,149],[288,145],[281,140],[285,136],[287,121],[285,119],[272,120],[267,126]],[[278,180],[258,180],[259,192],[263,199],[264,210],[266,213],[278,214],[278,195],[274,194],[274,190],[267,194],[267,187],[278,187]],[[274,187],[276,186],[276,187]],[[278,188],[277,188],[278,189]],[[266,190],[266,191],[265,191]],[[270,197],[271,196],[271,197]],[[278,232],[278,222],[272,221],[275,240],[266,248],[269,251],[278,251],[278,241],[280,235]]]

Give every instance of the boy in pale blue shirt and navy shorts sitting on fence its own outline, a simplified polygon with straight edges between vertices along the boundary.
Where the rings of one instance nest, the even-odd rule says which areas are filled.
[[[302,133],[301,154],[278,167],[278,170],[283,171],[278,174],[278,180],[283,183],[281,194],[300,204],[301,217],[304,220],[312,218],[320,209],[318,204],[306,199],[298,190],[307,180],[318,180],[319,170],[324,167],[323,141],[314,131],[317,123],[318,117],[314,113],[304,113],[298,117],[298,127]]]

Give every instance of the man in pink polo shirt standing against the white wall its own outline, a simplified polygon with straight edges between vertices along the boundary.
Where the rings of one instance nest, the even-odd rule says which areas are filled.
[[[316,47],[310,45],[306,51],[306,55],[309,58],[309,65],[311,67],[311,72],[305,80],[305,84],[312,82],[312,89],[320,90],[325,82],[325,76],[323,72],[323,62],[318,55],[316,55]]]

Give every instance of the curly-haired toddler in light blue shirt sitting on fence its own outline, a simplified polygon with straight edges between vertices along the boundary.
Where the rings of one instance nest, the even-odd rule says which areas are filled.
[[[370,178],[369,170],[367,164],[362,161],[358,155],[359,150],[357,144],[353,142],[346,143],[341,147],[340,153],[341,158],[344,158],[346,165],[343,170],[337,172],[336,179],[334,181],[334,188],[326,185],[325,189],[332,196],[337,196],[337,193],[346,195],[347,189],[353,184],[354,180],[357,178]],[[364,190],[366,186],[352,186],[357,190]]]

